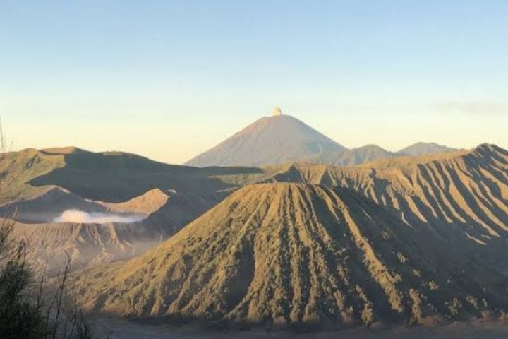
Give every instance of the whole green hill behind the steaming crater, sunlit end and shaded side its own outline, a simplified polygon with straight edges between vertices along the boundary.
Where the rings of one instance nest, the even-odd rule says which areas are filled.
[[[262,172],[248,167],[167,165],[130,153],[95,153],[79,148],[7,153],[1,169],[1,203],[34,198],[54,186],[83,198],[109,202],[127,201],[151,189],[210,194],[235,186],[222,182],[220,176],[234,178]]]

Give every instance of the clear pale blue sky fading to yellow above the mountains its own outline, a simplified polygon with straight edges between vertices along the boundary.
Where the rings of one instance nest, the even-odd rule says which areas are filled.
[[[13,149],[182,163],[279,105],[348,148],[508,148],[508,1],[4,1]]]

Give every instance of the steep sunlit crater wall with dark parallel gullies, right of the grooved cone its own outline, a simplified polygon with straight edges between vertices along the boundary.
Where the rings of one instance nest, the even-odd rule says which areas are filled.
[[[495,145],[359,167],[294,165],[267,181],[353,189],[410,222],[459,230],[478,244],[508,235],[508,152]]]

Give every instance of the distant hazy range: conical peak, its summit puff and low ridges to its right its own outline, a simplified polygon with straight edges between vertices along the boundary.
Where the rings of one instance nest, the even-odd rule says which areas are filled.
[[[419,156],[456,150],[437,143],[415,143],[398,152],[378,145],[348,149],[302,121],[282,114],[262,117],[184,165],[254,166],[310,162],[327,165],[359,165],[386,157]]]

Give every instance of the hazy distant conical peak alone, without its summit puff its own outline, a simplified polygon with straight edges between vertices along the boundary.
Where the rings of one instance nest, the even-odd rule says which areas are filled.
[[[186,165],[264,166],[345,150],[332,139],[289,115],[262,117]]]

